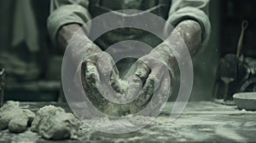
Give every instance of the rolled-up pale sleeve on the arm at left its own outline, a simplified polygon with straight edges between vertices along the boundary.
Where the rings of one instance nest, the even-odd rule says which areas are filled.
[[[47,26],[49,37],[54,43],[61,26],[70,23],[84,25],[90,20],[88,5],[89,0],[51,0]]]

